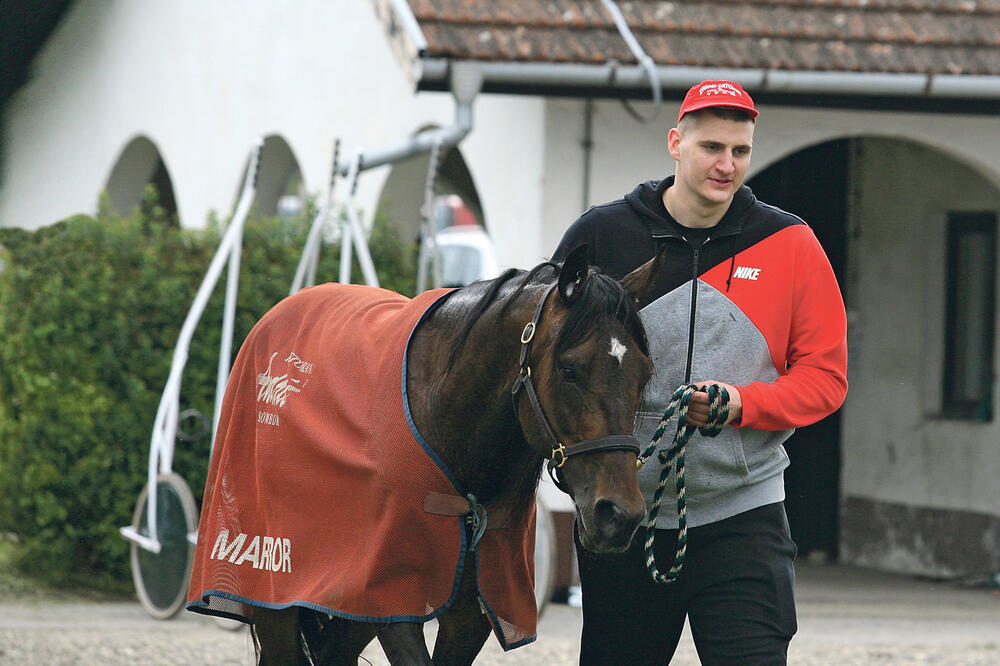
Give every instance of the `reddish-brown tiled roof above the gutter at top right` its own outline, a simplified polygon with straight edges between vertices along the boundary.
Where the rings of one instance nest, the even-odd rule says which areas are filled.
[[[601,0],[406,0],[425,58],[636,59]],[[658,65],[1000,75],[1000,0],[618,0]]]

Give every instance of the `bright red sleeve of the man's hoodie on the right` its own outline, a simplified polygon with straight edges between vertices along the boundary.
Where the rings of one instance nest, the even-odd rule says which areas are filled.
[[[783,322],[787,346],[771,349],[780,376],[771,383],[737,387],[743,414],[736,425],[757,430],[810,425],[836,411],[847,396],[844,301],[829,259],[812,231],[808,227],[806,231],[795,234],[791,288],[785,295],[776,295],[791,299],[789,317]],[[765,328],[773,331],[778,322],[769,323]],[[768,342],[772,344],[774,338]]]

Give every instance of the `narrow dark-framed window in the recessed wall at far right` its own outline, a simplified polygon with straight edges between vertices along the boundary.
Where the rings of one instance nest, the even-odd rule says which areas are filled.
[[[946,417],[993,419],[997,216],[948,215],[944,387]]]

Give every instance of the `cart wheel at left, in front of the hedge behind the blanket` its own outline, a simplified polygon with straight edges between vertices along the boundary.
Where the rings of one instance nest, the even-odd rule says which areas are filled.
[[[149,534],[149,485],[142,489],[132,515],[132,527],[140,534]],[[187,598],[194,545],[189,532],[198,529],[198,512],[187,484],[177,474],[161,474],[156,479],[156,531],[160,552],[154,553],[136,543],[131,547],[132,581],[139,601],[153,617],[166,620],[173,617]]]

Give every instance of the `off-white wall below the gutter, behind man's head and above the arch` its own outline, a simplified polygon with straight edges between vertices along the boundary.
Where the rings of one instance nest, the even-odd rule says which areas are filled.
[[[750,91],[753,94],[753,90]],[[651,105],[634,105],[649,117]],[[638,183],[674,171],[667,132],[679,102],[665,102],[655,119],[641,123],[620,102],[594,104],[589,205],[619,198]],[[803,148],[853,136],[895,137],[934,147],[966,163],[1000,187],[1000,116],[815,110],[759,106],[753,157],[747,178]],[[583,182],[584,102],[550,99],[546,106],[546,199],[543,239],[551,253],[579,216]],[[912,165],[894,165],[906,172]]]

